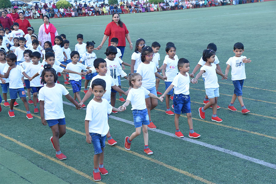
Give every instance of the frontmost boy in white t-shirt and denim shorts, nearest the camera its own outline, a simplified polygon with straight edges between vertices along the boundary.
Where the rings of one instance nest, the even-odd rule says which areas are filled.
[[[85,116],[85,133],[86,142],[93,143],[94,146],[94,181],[101,181],[101,175],[108,174],[108,171],[103,166],[105,138],[109,131],[108,114],[114,111],[122,111],[112,107],[106,99],[102,98],[105,94],[106,83],[103,79],[95,79],[91,82],[91,89],[94,98],[89,102],[86,108]]]

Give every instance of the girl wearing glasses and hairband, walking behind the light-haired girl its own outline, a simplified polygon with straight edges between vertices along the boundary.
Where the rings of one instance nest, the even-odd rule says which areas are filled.
[[[146,88],[147,90],[150,91],[150,93],[157,96],[156,88],[155,88],[155,77],[158,77],[159,79],[162,79],[162,80],[167,79],[167,77],[157,73],[155,63],[151,62],[153,56],[154,54],[153,54],[152,48],[150,46],[145,46],[142,49],[142,53],[141,53],[142,63],[140,63],[136,72],[139,73],[143,78],[142,87]],[[146,106],[148,109],[148,116],[150,121],[148,128],[156,129],[156,126],[151,121],[151,109],[154,109],[157,106],[158,101],[154,98],[151,98],[148,95],[145,95],[145,98],[146,98]]]

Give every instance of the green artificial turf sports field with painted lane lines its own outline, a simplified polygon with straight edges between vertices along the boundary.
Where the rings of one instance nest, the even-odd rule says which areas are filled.
[[[228,80],[220,80],[220,97],[217,114],[223,122],[211,121],[212,109],[206,110],[205,120],[198,115],[205,96],[204,83],[190,84],[191,110],[195,132],[200,138],[188,137],[185,114],[180,117],[180,130],[184,138],[174,136],[174,116],[165,114],[165,102],[159,102],[151,111],[156,130],[149,130],[149,147],[153,155],[143,152],[143,136],[132,141],[131,150],[124,148],[125,136],[135,131],[129,106],[125,112],[109,116],[110,132],[118,144],[105,147],[104,166],[109,171],[98,183],[107,184],[183,184],[183,183],[275,183],[276,172],[276,87],[275,87],[275,41],[276,2],[250,3],[238,6],[220,6],[193,10],[176,10],[155,13],[121,15],[132,43],[144,38],[146,44],[158,41],[160,66],[165,56],[165,45],[174,42],[179,58],[190,61],[194,69],[207,44],[217,45],[220,67],[225,71],[226,61],[234,56],[233,45],[244,44],[244,56],[252,62],[246,64],[247,79],[243,87],[243,101],[249,114],[227,109],[234,87],[231,72]],[[82,33],[84,41],[96,42],[98,46],[105,26],[111,16],[51,19],[58,33],[64,33],[74,50],[76,35]],[[38,33],[40,20],[31,20]],[[103,48],[94,51],[105,58]],[[130,63],[131,54],[126,47],[123,61]],[[126,67],[126,73],[130,68]],[[122,78],[124,79],[124,78]],[[63,83],[63,78],[59,81]],[[82,82],[84,86],[84,81]],[[70,90],[71,85],[66,86]],[[124,90],[128,82],[122,81]],[[164,92],[161,81],[159,91]],[[81,92],[81,97],[84,93]],[[8,96],[9,98],[9,96]],[[92,98],[91,98],[92,99]],[[0,113],[0,181],[1,183],[95,183],[93,181],[92,144],[86,143],[84,118],[86,111],[76,110],[63,98],[67,133],[59,140],[66,160],[55,158],[49,138],[51,129],[41,124],[40,114],[28,120],[23,102],[18,99],[15,117],[8,116],[8,107],[2,105]],[[88,102],[86,102],[87,105]],[[122,105],[116,101],[116,107]],[[170,101],[172,105],[172,101]],[[33,112],[33,105],[29,105]]]

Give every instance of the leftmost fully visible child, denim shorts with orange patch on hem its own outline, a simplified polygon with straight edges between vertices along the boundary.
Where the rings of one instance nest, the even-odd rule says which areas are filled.
[[[26,117],[28,119],[33,119],[33,116],[30,113],[29,105],[26,100],[26,94],[24,90],[23,83],[21,81],[21,75],[24,75],[28,79],[30,78],[24,71],[23,67],[16,65],[16,56],[13,53],[9,53],[6,56],[6,61],[9,66],[6,66],[3,70],[4,77],[9,78],[9,91],[10,91],[10,110],[8,112],[10,117],[15,117],[14,111],[13,111],[13,105],[17,98],[17,94],[19,95],[19,98],[21,98],[22,102],[24,103],[24,106],[27,111]]]

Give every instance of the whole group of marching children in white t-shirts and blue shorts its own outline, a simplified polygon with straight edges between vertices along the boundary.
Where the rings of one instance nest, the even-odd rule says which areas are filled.
[[[160,55],[158,52],[161,45],[158,42],[146,46],[144,39],[136,40],[131,64],[128,64],[123,62],[120,49],[116,48],[117,38],[111,39],[111,46],[106,48],[106,58],[102,59],[97,58],[93,52],[94,41],[83,43],[82,34],[77,35],[78,43],[75,45],[75,51],[71,52],[69,40],[66,40],[64,34],[55,37],[54,45],[46,41],[43,50],[40,41],[34,34],[33,27],[28,28],[28,33],[25,37],[10,37],[12,42],[9,42],[9,39],[6,39],[5,30],[0,29],[0,44],[2,44],[0,45],[0,84],[2,86],[1,96],[4,98],[3,104],[10,106],[8,115],[15,117],[13,106],[18,105],[16,99],[19,96],[24,103],[28,119],[33,118],[29,109],[29,104],[33,104],[33,112],[40,112],[42,124],[48,124],[52,130],[53,135],[50,141],[56,150],[56,157],[60,160],[67,158],[60,151],[59,146],[59,138],[66,132],[62,96],[64,95],[72,102],[76,109],[86,107],[86,142],[93,143],[94,146],[93,177],[95,181],[101,180],[100,173],[102,175],[108,174],[103,166],[105,139],[107,138],[109,145],[117,144],[109,131],[108,116],[110,113],[125,111],[130,103],[135,132],[125,137],[125,149],[130,150],[132,140],[140,135],[142,128],[144,152],[148,155],[153,154],[148,146],[148,128],[156,128],[152,121],[151,110],[158,105],[158,100],[163,102],[165,97],[165,113],[174,115],[175,136],[184,137],[179,130],[179,117],[182,113],[186,113],[189,125],[188,136],[191,138],[200,137],[200,134],[194,132],[193,129],[189,86],[190,83],[196,84],[201,76],[206,92],[203,100],[205,105],[198,109],[201,119],[205,119],[205,111],[212,108],[213,113],[212,116],[210,115],[210,119],[216,122],[222,121],[217,115],[217,109],[220,108],[217,105],[219,97],[217,74],[221,75],[222,79],[228,79],[230,67],[235,89],[228,109],[237,111],[233,104],[238,98],[241,112],[243,114],[250,112],[243,104],[242,87],[243,81],[246,79],[245,63],[250,63],[251,60],[242,56],[244,52],[242,43],[234,45],[235,56],[226,62],[227,67],[224,73],[221,71],[216,56],[217,46],[210,43],[207,49],[203,51],[197,66],[189,74],[190,62],[176,55],[176,46],[172,42],[166,44],[164,48],[166,56],[164,60],[162,59],[163,64],[159,67]],[[9,44],[13,46],[9,47]],[[10,50],[5,46],[8,46]],[[40,62],[41,59],[42,63]],[[124,65],[130,67],[131,73],[129,75],[123,70]],[[195,75],[199,69],[199,73]],[[63,74],[64,85],[71,84],[74,97],[71,97],[66,88],[59,84],[58,76],[61,74]],[[120,76],[128,79],[129,88],[127,91],[121,90]],[[80,97],[82,79],[85,80],[84,98]],[[166,90],[163,94],[158,91],[160,79],[165,81]],[[27,89],[28,101],[24,87]],[[8,90],[10,103],[7,99]],[[120,94],[120,101],[125,103],[115,108],[117,92]],[[90,99],[92,94],[94,97],[86,106],[84,103]],[[122,94],[127,96],[126,100]],[[161,96],[158,97],[157,95]],[[171,106],[170,100],[173,100]],[[40,103],[39,108],[37,103]]]

